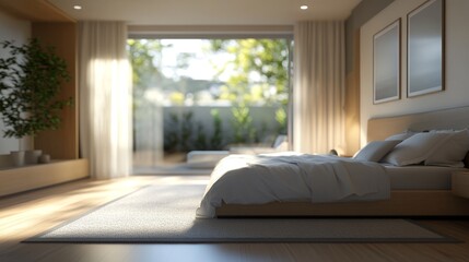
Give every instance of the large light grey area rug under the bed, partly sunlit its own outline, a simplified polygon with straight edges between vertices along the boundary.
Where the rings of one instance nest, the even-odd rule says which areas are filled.
[[[197,219],[204,184],[153,184],[117,199],[25,242],[446,242],[407,219]]]

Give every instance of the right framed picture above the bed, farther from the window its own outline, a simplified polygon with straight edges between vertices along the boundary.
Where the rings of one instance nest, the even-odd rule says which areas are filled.
[[[408,14],[408,97],[444,90],[444,4],[430,0]]]

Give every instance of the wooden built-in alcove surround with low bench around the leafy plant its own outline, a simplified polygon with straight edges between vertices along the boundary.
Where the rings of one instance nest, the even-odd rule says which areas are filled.
[[[58,130],[40,132],[34,139],[34,148],[47,152],[52,159],[63,160],[0,169],[0,196],[89,177],[89,162],[79,158],[77,21],[45,0],[0,0],[0,10],[30,21],[31,37],[52,46],[67,61],[71,79],[62,83],[60,98],[72,97],[74,102],[72,107],[61,111]],[[2,163],[0,159],[0,166]]]

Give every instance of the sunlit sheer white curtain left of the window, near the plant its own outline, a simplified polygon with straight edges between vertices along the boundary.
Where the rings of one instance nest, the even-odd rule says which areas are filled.
[[[93,178],[131,167],[131,68],[124,22],[80,22],[80,145]]]

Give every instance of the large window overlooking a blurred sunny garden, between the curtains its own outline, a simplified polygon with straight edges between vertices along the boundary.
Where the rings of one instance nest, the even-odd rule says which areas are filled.
[[[289,38],[129,39],[134,166],[286,134]]]

